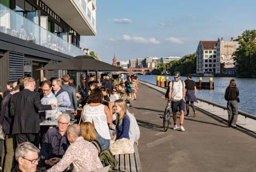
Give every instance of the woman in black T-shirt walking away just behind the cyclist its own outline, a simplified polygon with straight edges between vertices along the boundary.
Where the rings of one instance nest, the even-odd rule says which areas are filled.
[[[192,75],[188,74],[187,79],[184,81],[185,82],[185,88],[186,88],[186,109],[187,109],[187,114],[185,116],[189,116],[189,101],[191,104],[191,107],[194,111],[193,117],[196,117],[196,111],[195,111],[195,105],[194,102],[197,102],[197,99],[195,97],[196,93],[196,85],[195,81],[192,80]]]

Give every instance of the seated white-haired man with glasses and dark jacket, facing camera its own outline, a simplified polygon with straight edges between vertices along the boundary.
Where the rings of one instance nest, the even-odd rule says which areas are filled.
[[[67,139],[67,127],[69,124],[69,115],[61,114],[58,117],[58,126],[48,129],[45,134],[40,152],[42,161],[47,169],[61,160],[70,145]]]

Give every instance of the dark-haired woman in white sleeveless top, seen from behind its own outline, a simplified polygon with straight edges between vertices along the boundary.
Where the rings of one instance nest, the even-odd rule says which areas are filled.
[[[103,94],[100,88],[94,88],[89,98],[88,104],[83,107],[82,120],[93,124],[98,141],[101,145],[102,151],[109,149],[110,146],[110,133],[108,124],[112,126],[112,109],[114,103],[109,103],[108,106],[102,105]]]

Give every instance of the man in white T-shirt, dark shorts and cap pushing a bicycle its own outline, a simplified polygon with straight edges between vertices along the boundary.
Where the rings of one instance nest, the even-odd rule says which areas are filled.
[[[171,100],[171,108],[173,112],[173,120],[174,126],[173,129],[176,130],[177,127],[177,115],[176,113],[180,112],[180,131],[185,131],[183,126],[184,120],[184,111],[185,111],[185,83],[183,80],[180,80],[181,73],[175,72],[174,73],[174,80],[169,84],[169,95],[168,99]]]

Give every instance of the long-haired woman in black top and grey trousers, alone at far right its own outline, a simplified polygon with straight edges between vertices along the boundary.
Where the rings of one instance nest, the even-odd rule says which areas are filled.
[[[236,120],[238,115],[239,91],[236,87],[235,79],[231,79],[225,92],[225,99],[228,101],[227,108],[229,114],[229,127],[236,128]]]

